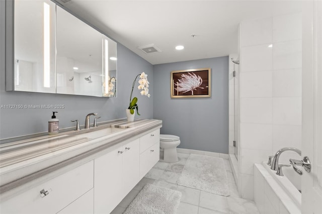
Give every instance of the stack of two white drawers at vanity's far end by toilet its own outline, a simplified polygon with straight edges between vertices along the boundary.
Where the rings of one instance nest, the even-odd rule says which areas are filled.
[[[140,179],[160,158],[160,130],[157,129],[140,138]]]

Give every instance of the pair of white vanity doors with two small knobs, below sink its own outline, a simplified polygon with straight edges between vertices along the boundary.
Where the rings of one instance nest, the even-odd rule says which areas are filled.
[[[137,139],[94,161],[94,213],[110,213],[139,182]]]

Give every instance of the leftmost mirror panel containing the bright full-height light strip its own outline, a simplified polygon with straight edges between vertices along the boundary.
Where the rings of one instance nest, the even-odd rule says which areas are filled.
[[[55,93],[55,4],[15,1],[14,32],[14,90]]]

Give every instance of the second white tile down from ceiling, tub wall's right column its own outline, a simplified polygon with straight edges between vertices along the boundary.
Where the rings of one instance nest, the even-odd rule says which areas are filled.
[[[270,60],[270,59],[268,59]],[[302,40],[273,44],[274,70],[302,67]]]

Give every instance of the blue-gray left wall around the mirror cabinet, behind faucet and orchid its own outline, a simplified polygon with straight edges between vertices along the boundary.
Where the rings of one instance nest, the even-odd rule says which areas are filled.
[[[121,44],[117,44],[118,73],[117,98],[92,97],[80,95],[49,94],[5,90],[5,1],[0,1],[0,105],[8,104],[64,104],[65,108],[57,110],[59,128],[74,126],[70,120],[79,120],[84,125],[85,116],[95,112],[101,116],[100,121],[125,118],[125,109],[129,105],[132,82],[141,72],[148,75],[153,85],[153,67],[150,63],[134,54]],[[138,97],[139,113],[136,119],[153,117],[152,96],[141,96],[135,85],[133,96]],[[48,131],[48,120],[55,109],[4,109],[0,108],[0,139]],[[92,116],[93,117],[93,116]],[[93,123],[94,118],[91,119]]]

